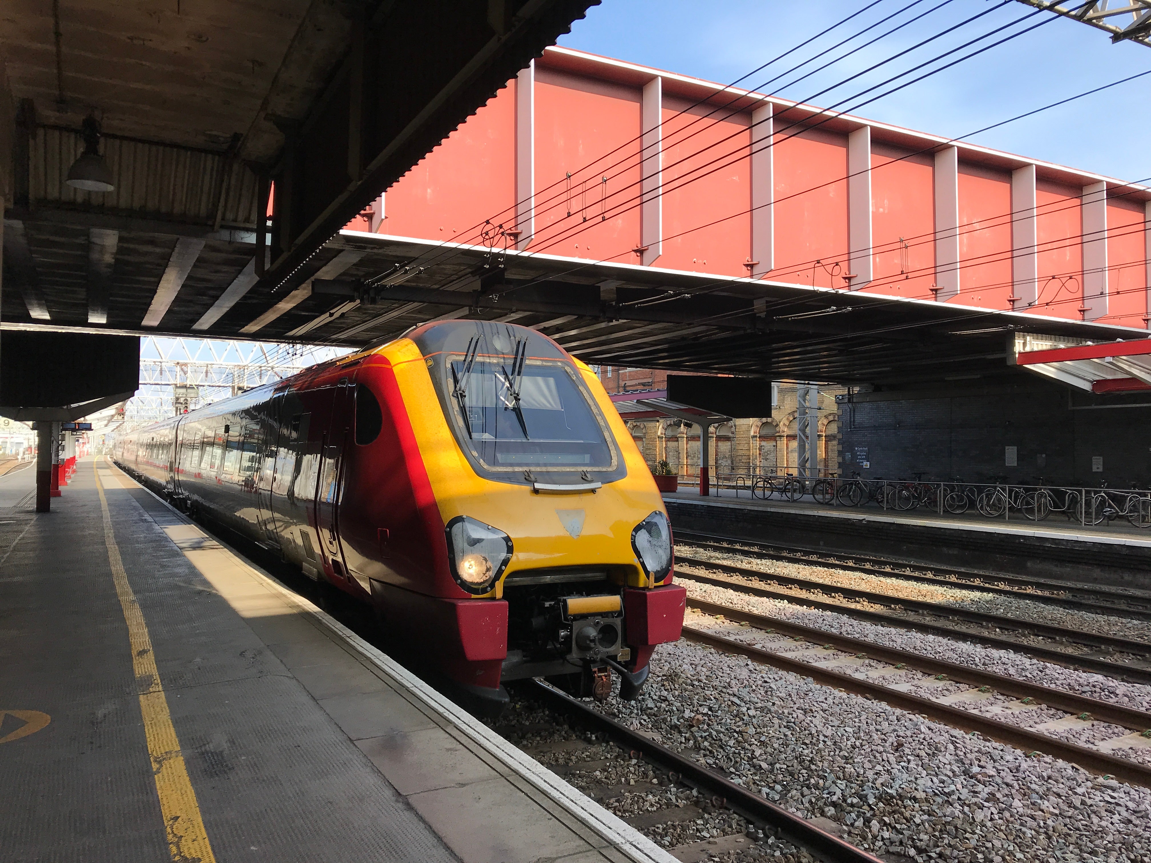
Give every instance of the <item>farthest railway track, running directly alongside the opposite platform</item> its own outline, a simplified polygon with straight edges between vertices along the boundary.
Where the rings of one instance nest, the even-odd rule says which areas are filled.
[[[1076,611],[1116,614],[1151,620],[1151,594],[1127,593],[1122,589],[1066,583],[1044,579],[958,570],[939,566],[916,566],[902,560],[863,555],[836,556],[813,549],[777,543],[738,540],[716,534],[678,530],[677,542],[710,551],[754,556],[769,560],[831,566],[882,578],[898,578],[940,587],[969,587],[974,590],[1046,602]],[[1082,598],[1076,598],[1082,597]]]

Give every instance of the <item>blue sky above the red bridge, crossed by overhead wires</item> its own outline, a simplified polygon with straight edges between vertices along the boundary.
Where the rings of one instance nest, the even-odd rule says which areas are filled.
[[[759,89],[773,75],[913,2],[914,0],[881,0],[870,10],[832,33],[817,38],[811,45],[768,67],[741,85]],[[996,8],[1000,0],[921,0],[913,8],[870,31],[868,36],[847,43],[821,61],[777,81],[767,90],[791,99],[810,98],[894,53],[973,15],[990,10],[978,21],[849,84],[840,85],[813,99],[813,102],[829,106],[847,99],[931,56],[1035,12],[1014,1]],[[563,37],[559,44],[730,83],[867,5],[859,0],[603,0],[601,6],[588,10],[584,21],[576,22],[572,32]],[[825,71],[793,83],[794,78],[815,66],[928,10],[933,12],[834,63]],[[1046,23],[1032,32],[852,113],[925,132],[960,137],[1016,114],[1151,69],[1151,48],[1133,43],[1113,45],[1110,36],[1102,30],[1049,13],[1038,13],[1027,22],[961,53],[969,53],[1003,36],[1044,21]],[[955,56],[959,55],[940,62],[948,62]],[[887,89],[890,86],[883,90]],[[967,139],[1032,159],[1137,181],[1151,175],[1151,148],[1146,146],[1151,139],[1149,94],[1151,75]],[[869,97],[848,100],[843,107],[853,106],[866,98]]]

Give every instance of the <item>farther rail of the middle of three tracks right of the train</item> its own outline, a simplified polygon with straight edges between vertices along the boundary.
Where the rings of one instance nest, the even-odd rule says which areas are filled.
[[[816,581],[814,579],[801,579],[794,575],[777,575],[772,572],[763,572],[762,570],[753,570],[746,566],[734,566],[733,564],[721,564],[714,560],[704,560],[702,558],[679,557],[676,563],[687,563],[695,566],[710,566],[712,568],[731,573],[732,575],[742,575],[745,578],[753,578],[761,581],[776,581],[780,585],[793,585],[807,590],[820,590],[825,594],[840,594],[856,599],[867,599],[868,602],[874,602],[879,605],[901,605],[905,609],[921,611],[928,614],[937,614],[939,617],[952,619],[959,618],[960,620],[966,620],[970,624],[983,624],[985,626],[996,626],[1001,629],[1029,632],[1035,635],[1044,635],[1049,639],[1064,639],[1080,644],[1105,647],[1111,648],[1112,650],[1135,654],[1136,656],[1151,656],[1151,643],[1131,641],[1130,639],[1119,639],[1114,635],[1099,635],[1097,633],[1082,632],[1080,629],[1068,629],[1064,626],[1037,624],[1031,620],[989,614],[983,611],[969,611],[967,609],[956,608],[954,605],[944,605],[936,602],[907,599],[902,596],[895,596],[894,594],[881,594],[874,590],[840,587],[839,585],[829,585],[825,581]]]

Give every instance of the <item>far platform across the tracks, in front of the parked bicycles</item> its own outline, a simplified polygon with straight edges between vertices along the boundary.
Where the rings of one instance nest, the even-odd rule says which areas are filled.
[[[761,501],[748,492],[663,495],[672,528],[908,563],[1146,589],[1151,530],[1081,526],[1054,517],[1030,521],[978,514],[938,515],[874,505]]]

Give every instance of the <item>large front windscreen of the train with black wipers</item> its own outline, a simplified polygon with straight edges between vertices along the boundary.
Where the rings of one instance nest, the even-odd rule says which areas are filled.
[[[607,430],[570,364],[452,357],[447,379],[457,438],[488,469],[615,466]]]

